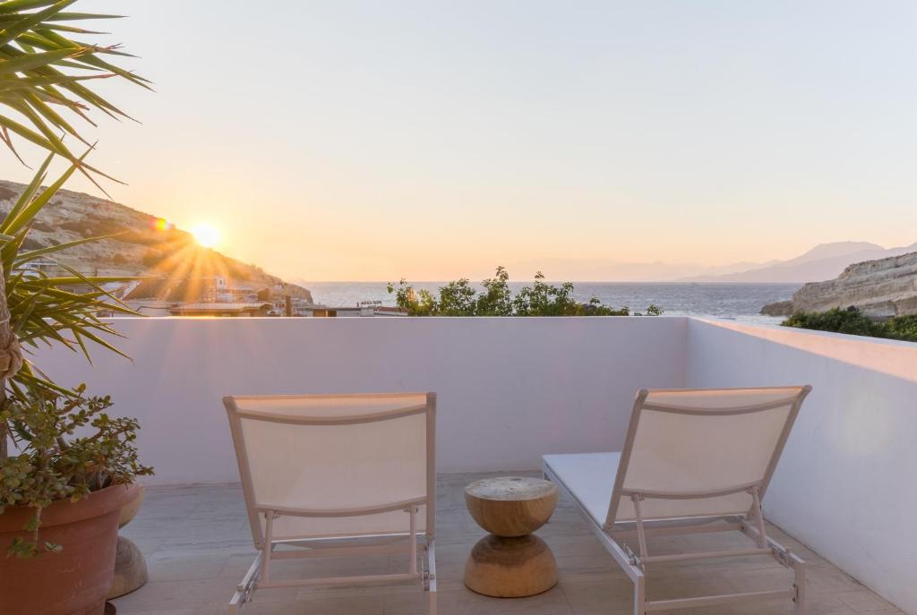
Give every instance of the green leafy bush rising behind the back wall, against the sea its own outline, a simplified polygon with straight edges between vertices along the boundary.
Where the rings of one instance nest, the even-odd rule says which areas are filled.
[[[412,316],[628,316],[630,309],[613,308],[593,297],[580,303],[573,299],[573,283],[554,286],[545,281],[541,271],[535,275],[532,286],[525,286],[513,296],[509,287],[509,273],[498,267],[493,278],[481,281],[483,291],[471,285],[468,278],[451,281],[440,287],[439,296],[414,287],[407,280],[396,286],[388,285],[395,295],[395,304]],[[657,316],[662,310],[656,305],[646,309],[648,315]],[[635,315],[642,315],[636,313]]]

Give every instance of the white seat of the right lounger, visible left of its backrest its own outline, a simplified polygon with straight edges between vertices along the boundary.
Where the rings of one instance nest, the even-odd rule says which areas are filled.
[[[546,455],[542,459],[592,520],[604,525],[621,453]]]

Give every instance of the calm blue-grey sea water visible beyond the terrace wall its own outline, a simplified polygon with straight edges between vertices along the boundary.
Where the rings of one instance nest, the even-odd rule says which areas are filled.
[[[415,289],[436,291],[445,282],[416,282]],[[518,291],[528,282],[511,282]],[[356,305],[361,301],[381,301],[394,305],[385,291],[385,282],[304,282],[316,303],[329,306]],[[759,323],[779,323],[779,318],[759,313],[765,303],[790,299],[796,284],[691,284],[655,282],[574,282],[575,297],[586,302],[598,297],[613,307],[629,307],[643,312],[655,303],[669,315],[717,316]]]

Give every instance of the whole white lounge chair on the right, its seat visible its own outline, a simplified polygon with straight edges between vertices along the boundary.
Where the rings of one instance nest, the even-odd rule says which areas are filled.
[[[576,502],[634,582],[634,613],[792,599],[805,612],[805,563],[768,538],[761,498],[811,387],[640,390],[621,453],[546,455],[545,476]],[[740,531],[740,550],[650,555],[646,537]],[[632,546],[633,545],[633,546]],[[786,590],[646,600],[646,566],[771,555],[793,570]]]

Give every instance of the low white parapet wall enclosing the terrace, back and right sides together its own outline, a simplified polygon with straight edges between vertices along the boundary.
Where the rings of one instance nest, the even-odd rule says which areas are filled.
[[[61,384],[137,417],[158,484],[235,482],[221,398],[434,390],[440,472],[619,450],[641,388],[812,384],[768,517],[917,613],[917,345],[653,318],[121,319],[133,361],[42,350]],[[610,478],[611,479],[611,478]]]

